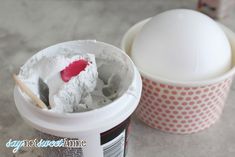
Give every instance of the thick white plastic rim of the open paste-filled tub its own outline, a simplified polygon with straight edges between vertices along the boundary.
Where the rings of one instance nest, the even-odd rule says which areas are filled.
[[[110,104],[95,110],[78,113],[57,113],[42,110],[32,105],[32,103],[24,97],[19,87],[16,86],[14,89],[16,108],[21,117],[33,128],[56,136],[76,137],[80,133],[106,131],[131,116],[136,109],[141,97],[141,77],[132,60],[121,49],[95,40],[68,41],[53,46],[60,46],[61,44],[73,45],[81,42],[82,44],[98,44],[101,47],[107,46],[111,50],[117,51],[117,53],[121,53],[121,55],[125,56],[125,61],[130,64],[130,68],[133,70],[130,85],[119,98]],[[46,49],[53,48],[53,46],[47,47]],[[38,55],[47,52],[48,51],[43,49],[38,52]],[[112,119],[112,121],[110,121],[110,119]],[[78,123],[79,125],[77,125]]]

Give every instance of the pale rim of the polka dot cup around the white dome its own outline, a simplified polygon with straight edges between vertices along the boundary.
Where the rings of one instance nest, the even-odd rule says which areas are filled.
[[[125,51],[130,57],[131,57],[131,52],[128,52],[128,50],[126,50],[126,46],[127,44],[130,42],[132,44],[131,41],[129,41],[128,39],[130,37],[133,37],[135,34],[138,33],[138,31],[141,29],[141,27],[146,24],[150,19],[144,19],[142,21],[139,21],[138,23],[134,24],[132,27],[130,27],[126,33],[124,34],[122,41],[121,41],[121,48],[123,49],[123,51]],[[224,26],[223,24],[217,22],[217,24],[221,27],[221,29],[224,31],[225,35],[227,36],[230,45],[232,46],[231,43],[235,43],[235,33],[230,30],[229,28],[227,28],[226,26]],[[131,46],[131,45],[130,45]],[[129,46],[129,47],[130,47]],[[233,66],[230,68],[230,70],[226,71],[225,73],[210,78],[210,79],[205,79],[205,80],[198,80],[198,81],[178,81],[178,80],[172,80],[172,79],[168,79],[168,78],[164,78],[161,76],[153,76],[152,74],[149,74],[148,72],[144,71],[143,69],[141,69],[139,66],[136,65],[136,67],[138,68],[140,74],[142,75],[142,77],[144,78],[148,78],[154,82],[160,82],[163,84],[168,84],[168,85],[173,85],[173,86],[180,86],[180,87],[196,87],[196,86],[206,86],[206,85],[211,85],[214,83],[218,83],[221,82],[229,77],[232,77],[235,74],[235,48],[232,48],[232,64]]]

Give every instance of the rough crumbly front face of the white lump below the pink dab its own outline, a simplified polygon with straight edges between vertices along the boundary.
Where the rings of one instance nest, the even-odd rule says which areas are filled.
[[[98,77],[95,57],[92,54],[86,54],[85,57],[79,56],[79,59],[88,60],[89,65],[69,82],[63,83],[57,93],[51,96],[52,111],[77,112],[96,108],[92,106],[90,94],[96,87]]]

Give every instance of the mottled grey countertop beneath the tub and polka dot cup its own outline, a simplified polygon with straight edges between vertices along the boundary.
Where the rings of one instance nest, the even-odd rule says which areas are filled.
[[[10,139],[29,139],[34,130],[24,123],[13,100],[10,72],[42,48],[62,41],[97,39],[119,47],[136,22],[173,8],[196,7],[196,0],[0,0],[0,156],[39,157],[37,149],[12,154]],[[235,10],[220,22],[235,30]],[[133,117],[128,157],[235,156],[235,83],[221,119],[191,135],[149,128]]]

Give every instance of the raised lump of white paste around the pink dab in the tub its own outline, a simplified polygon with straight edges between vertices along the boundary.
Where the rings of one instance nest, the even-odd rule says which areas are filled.
[[[60,77],[60,71],[79,59],[87,60],[89,65],[79,75],[64,82]],[[49,73],[47,73],[48,71]],[[106,99],[102,93],[104,83],[98,79],[93,54],[66,52],[53,57],[44,56],[40,60],[33,58],[28,64],[21,67],[19,77],[38,97],[38,79],[42,78],[49,87],[51,111],[54,112],[91,110],[99,107],[100,102],[97,101]],[[107,102],[110,101],[107,100]]]

